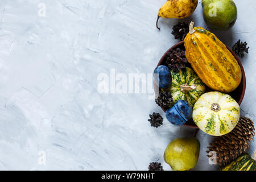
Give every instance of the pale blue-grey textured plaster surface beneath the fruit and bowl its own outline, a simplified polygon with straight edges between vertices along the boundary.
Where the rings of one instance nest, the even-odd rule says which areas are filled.
[[[165,0],[15,0],[0,2],[0,169],[146,170],[172,139],[194,129],[150,127],[148,114],[163,111],[148,94],[100,94],[97,76],[152,73],[164,52],[177,43],[160,19]],[[235,1],[232,30],[213,31],[228,46],[246,41],[242,59],[247,87],[242,113],[255,119],[256,26],[254,0]],[[46,7],[44,16],[43,7]],[[206,27],[201,4],[185,22]],[[194,169],[212,170],[199,132],[200,159]],[[249,152],[253,153],[254,145]],[[46,163],[42,164],[42,156]]]

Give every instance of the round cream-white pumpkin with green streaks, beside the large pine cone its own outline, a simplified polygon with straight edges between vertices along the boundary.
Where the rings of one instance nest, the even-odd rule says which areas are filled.
[[[212,110],[218,104],[220,110]],[[204,93],[193,107],[193,121],[200,130],[213,136],[229,133],[240,118],[240,107],[228,94],[221,92]]]

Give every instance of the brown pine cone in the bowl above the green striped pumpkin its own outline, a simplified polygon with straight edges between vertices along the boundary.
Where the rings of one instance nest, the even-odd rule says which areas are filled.
[[[166,64],[174,72],[185,68],[187,62],[188,60],[185,57],[185,51],[180,48],[171,49],[171,51],[167,53]]]

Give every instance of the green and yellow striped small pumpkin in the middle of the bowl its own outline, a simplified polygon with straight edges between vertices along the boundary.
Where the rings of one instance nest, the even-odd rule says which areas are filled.
[[[171,92],[172,99],[174,100],[173,105],[179,100],[184,100],[193,107],[197,99],[205,92],[204,83],[188,67],[181,69],[179,72],[170,72],[172,75],[172,85],[165,90]]]

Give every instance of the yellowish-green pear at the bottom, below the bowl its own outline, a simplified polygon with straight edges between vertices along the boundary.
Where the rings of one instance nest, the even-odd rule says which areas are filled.
[[[164,161],[174,171],[188,171],[196,166],[199,158],[200,142],[193,138],[177,138],[164,151]]]

